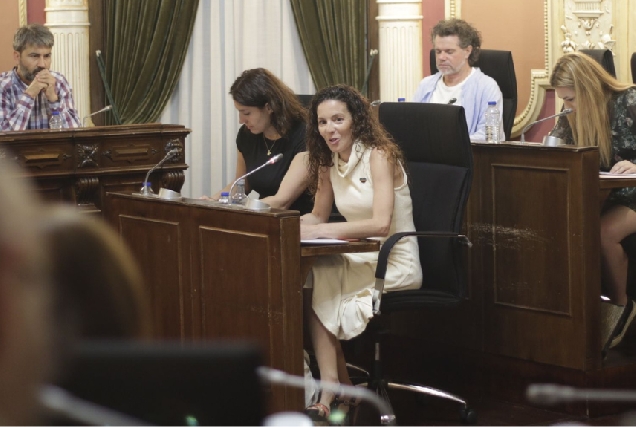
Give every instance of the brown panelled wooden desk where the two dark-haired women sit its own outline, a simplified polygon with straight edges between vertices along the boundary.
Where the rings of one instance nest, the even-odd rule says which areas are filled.
[[[109,193],[104,216],[141,266],[158,338],[252,339],[268,366],[299,376],[302,285],[313,258],[379,249],[377,242],[301,248],[297,211]],[[270,397],[272,412],[304,408],[297,388],[272,387]]]

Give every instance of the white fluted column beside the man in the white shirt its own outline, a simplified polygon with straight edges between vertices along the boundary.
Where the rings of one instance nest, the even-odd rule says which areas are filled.
[[[377,0],[380,98],[410,101],[422,79],[422,0]]]

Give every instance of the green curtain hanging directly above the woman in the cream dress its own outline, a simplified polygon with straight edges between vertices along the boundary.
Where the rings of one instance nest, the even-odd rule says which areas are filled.
[[[363,93],[366,0],[290,0],[316,89],[345,83]]]

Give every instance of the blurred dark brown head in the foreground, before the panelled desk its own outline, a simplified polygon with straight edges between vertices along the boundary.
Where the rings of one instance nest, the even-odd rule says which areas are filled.
[[[53,207],[41,230],[50,251],[58,347],[83,339],[149,336],[141,274],[105,222],[71,207]]]

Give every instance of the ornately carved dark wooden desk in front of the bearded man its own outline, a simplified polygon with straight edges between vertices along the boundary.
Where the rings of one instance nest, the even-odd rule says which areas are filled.
[[[173,148],[181,153],[149,180],[155,192],[181,191],[189,133],[159,123],[1,132],[0,158],[21,166],[46,200],[99,211],[107,191],[139,191],[146,173]]]

